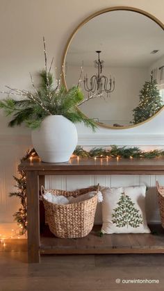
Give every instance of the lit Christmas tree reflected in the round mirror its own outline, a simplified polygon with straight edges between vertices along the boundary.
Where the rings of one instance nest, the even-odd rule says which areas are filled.
[[[144,122],[163,107],[160,92],[157,88],[157,82],[153,80],[152,74],[151,80],[145,82],[142,90],[140,90],[139,97],[140,103],[133,109],[133,121],[131,122],[133,124]]]

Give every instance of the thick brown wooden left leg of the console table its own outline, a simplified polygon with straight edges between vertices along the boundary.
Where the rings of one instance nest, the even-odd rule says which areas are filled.
[[[38,171],[27,171],[28,263],[40,263],[40,219]]]

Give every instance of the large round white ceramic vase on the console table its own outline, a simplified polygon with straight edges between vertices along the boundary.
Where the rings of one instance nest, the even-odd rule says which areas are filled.
[[[76,126],[63,115],[47,116],[39,129],[32,131],[32,142],[42,162],[67,162],[78,141]]]

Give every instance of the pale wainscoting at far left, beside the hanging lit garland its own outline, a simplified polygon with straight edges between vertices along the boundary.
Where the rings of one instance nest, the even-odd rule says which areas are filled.
[[[17,165],[28,149],[31,137],[28,135],[0,135],[0,224],[13,222],[13,213],[19,207],[19,199],[9,197],[15,192],[14,176],[18,176]]]

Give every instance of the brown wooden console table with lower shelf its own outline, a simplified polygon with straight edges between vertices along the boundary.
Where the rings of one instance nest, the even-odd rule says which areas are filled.
[[[39,190],[45,175],[164,175],[164,159],[71,158],[68,163],[42,163],[33,158],[21,163],[19,170],[26,172],[29,263],[39,263],[43,253],[164,253],[161,226],[158,235],[113,234],[99,238],[94,228],[85,238],[60,239],[46,227],[40,235],[39,207]]]

